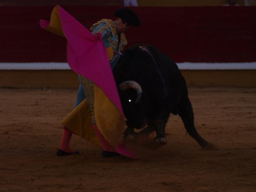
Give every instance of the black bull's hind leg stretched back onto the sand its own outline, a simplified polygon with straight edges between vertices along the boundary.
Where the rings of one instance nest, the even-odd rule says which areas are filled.
[[[206,150],[215,149],[214,145],[204,140],[196,131],[196,128],[194,125],[194,113],[188,97],[180,101],[179,116],[181,117],[188,134],[198,142],[198,144],[201,146],[202,149],[206,149]]]

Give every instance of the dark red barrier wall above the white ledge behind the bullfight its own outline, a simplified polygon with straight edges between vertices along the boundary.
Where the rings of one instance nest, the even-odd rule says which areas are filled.
[[[86,28],[118,7],[62,6]],[[37,24],[52,6],[0,7],[0,62],[65,62],[66,40]],[[132,7],[141,25],[128,46],[150,44],[176,62],[256,61],[256,7]],[[128,47],[126,46],[126,48]]]

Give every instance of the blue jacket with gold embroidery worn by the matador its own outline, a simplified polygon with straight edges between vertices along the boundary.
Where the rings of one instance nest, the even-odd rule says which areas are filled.
[[[121,52],[124,49],[124,46],[127,44],[124,33],[120,34],[120,43],[118,43],[116,21],[111,19],[102,19],[97,23],[94,23],[90,30],[92,30],[92,34],[101,33],[105,47],[107,48],[111,46],[113,51]],[[112,69],[116,66],[119,57],[120,55],[114,54],[113,59],[110,60],[110,66]]]

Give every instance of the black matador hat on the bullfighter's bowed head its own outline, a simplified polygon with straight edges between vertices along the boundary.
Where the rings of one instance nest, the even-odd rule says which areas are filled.
[[[138,15],[128,8],[117,9],[114,13],[116,17],[120,17],[124,22],[129,25],[134,25],[135,27],[139,27],[140,19]]]

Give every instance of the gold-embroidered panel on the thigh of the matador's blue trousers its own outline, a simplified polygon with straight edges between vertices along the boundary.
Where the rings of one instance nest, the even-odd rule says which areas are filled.
[[[86,79],[84,76],[79,75],[79,81],[83,85],[84,88],[84,93],[87,98],[87,102],[90,106],[91,110],[91,118],[92,118],[92,124],[95,124],[95,116],[94,116],[94,87],[93,83],[89,80]]]

